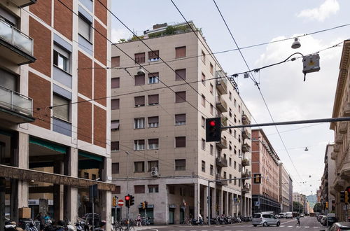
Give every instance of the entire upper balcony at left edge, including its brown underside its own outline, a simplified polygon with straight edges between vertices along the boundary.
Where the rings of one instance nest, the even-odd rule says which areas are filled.
[[[29,64],[33,57],[33,39],[0,18],[0,57],[18,65]]]

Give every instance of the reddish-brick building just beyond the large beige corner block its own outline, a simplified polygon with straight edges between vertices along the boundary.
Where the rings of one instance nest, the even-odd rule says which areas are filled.
[[[253,184],[253,212],[280,212],[279,205],[279,156],[269,143],[262,129],[251,131],[252,143],[252,174],[262,174],[260,184]]]

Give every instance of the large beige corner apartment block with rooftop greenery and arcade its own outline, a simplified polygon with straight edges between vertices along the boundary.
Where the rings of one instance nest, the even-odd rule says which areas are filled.
[[[206,118],[221,117],[228,126],[248,124],[251,115],[190,25],[195,33],[186,23],[145,31],[142,41],[153,51],[137,39],[112,46],[113,195],[134,195],[130,216],[146,212],[158,224],[199,214],[251,215],[251,183],[239,180],[251,176],[250,129],[223,130],[220,142],[205,141]],[[222,179],[237,180],[215,182]]]

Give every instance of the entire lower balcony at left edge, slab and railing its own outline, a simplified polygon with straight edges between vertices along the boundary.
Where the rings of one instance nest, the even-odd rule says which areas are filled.
[[[11,123],[31,123],[33,100],[0,86],[0,119]]]

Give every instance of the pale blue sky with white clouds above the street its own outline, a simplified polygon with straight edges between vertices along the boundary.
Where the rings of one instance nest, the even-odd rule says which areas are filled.
[[[214,0],[173,1],[186,20],[192,20],[196,27],[202,28],[213,52],[237,48]],[[349,0],[215,2],[240,48],[350,23]],[[184,22],[170,0],[113,0],[112,12],[138,35],[157,23]],[[253,73],[253,76],[259,83],[275,122],[331,118],[342,44],[330,47],[349,39],[349,31],[350,26],[345,26],[302,36],[301,47],[297,50],[290,48],[293,40],[241,49],[248,67],[237,50],[217,54],[216,58],[228,75],[231,75],[248,71],[248,68],[255,69],[281,62],[295,52],[309,55],[320,51],[321,70],[308,73],[305,82],[300,58],[262,69]],[[132,33],[112,16],[113,42],[131,36]],[[325,48],[329,49],[324,50]],[[252,123],[271,123],[267,107],[253,80],[239,75],[235,81],[241,98],[253,116]],[[310,195],[316,193],[320,186],[325,147],[334,143],[334,132],[329,127],[329,123],[278,126],[281,138],[276,127],[263,127],[274,150],[292,176],[294,192]],[[306,147],[309,151],[304,151]]]

